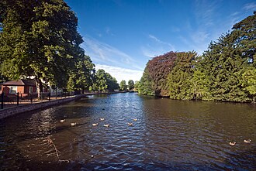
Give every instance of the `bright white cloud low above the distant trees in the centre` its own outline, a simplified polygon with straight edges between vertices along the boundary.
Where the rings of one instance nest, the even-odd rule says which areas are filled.
[[[134,82],[136,80],[140,80],[143,74],[142,70],[130,70],[126,68],[112,67],[102,64],[95,64],[95,69],[105,70],[107,73],[111,74],[112,77],[115,77],[119,83],[121,82],[121,80],[126,80],[126,84],[128,83],[128,80],[133,80]]]

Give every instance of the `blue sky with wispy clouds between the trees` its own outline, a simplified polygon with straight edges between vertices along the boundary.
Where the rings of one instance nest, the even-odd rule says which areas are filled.
[[[81,47],[96,69],[140,80],[152,57],[202,54],[210,41],[256,11],[253,0],[65,0],[78,16]]]

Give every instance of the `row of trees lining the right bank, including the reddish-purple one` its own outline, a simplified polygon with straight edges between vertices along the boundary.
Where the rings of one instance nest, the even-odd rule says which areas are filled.
[[[209,44],[202,56],[165,53],[147,63],[140,94],[203,101],[256,101],[256,13]]]

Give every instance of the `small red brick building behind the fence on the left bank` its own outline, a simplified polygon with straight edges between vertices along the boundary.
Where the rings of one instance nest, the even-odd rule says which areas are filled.
[[[0,84],[0,94],[2,92],[5,96],[12,94],[22,94],[27,96],[28,94],[36,94],[36,81],[35,80],[10,80],[3,84]]]

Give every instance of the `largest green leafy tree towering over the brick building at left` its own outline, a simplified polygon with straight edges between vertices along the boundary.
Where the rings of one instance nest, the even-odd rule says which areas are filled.
[[[1,8],[1,71],[12,80],[35,77],[66,87],[75,63],[84,56],[79,46],[78,18],[63,0],[4,0]]]

